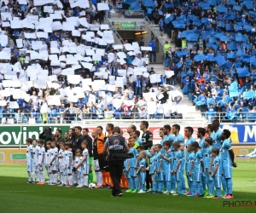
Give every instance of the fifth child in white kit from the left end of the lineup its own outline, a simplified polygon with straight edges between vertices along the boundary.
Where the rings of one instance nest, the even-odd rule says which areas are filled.
[[[56,147],[56,141],[51,141],[51,155],[50,155],[50,170],[52,174],[52,178],[49,181],[49,185],[56,185],[58,183],[58,174],[57,174],[57,159],[58,159],[58,148]]]

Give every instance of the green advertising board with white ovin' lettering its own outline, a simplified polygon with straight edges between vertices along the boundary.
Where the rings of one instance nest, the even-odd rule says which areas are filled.
[[[26,138],[39,138],[40,133],[44,131],[46,127],[50,127],[53,134],[57,129],[62,130],[62,137],[64,136],[64,132],[70,129],[70,125],[38,125],[38,126],[29,126],[22,125],[20,126],[1,126],[0,127],[0,147],[7,146],[24,146],[26,145]]]

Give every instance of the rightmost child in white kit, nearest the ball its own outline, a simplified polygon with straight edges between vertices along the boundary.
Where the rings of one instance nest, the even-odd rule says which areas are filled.
[[[83,175],[84,175],[84,187],[88,187],[88,174],[90,171],[90,155],[87,149],[88,142],[83,141],[81,147],[84,149],[83,151],[83,159],[80,164],[77,165],[78,168],[80,165],[83,165]]]

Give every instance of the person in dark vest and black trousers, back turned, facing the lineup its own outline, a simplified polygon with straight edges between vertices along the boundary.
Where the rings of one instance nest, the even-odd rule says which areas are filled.
[[[112,197],[122,196],[120,179],[123,174],[125,153],[128,153],[129,147],[125,138],[120,136],[121,130],[118,126],[113,128],[113,136],[108,137],[104,144],[104,153],[108,153],[109,173],[113,181]]]

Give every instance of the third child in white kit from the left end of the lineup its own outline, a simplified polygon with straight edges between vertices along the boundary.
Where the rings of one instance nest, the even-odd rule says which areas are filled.
[[[38,140],[39,153],[38,153],[38,170],[39,170],[39,185],[45,184],[45,174],[44,174],[44,166],[46,162],[46,154],[44,148],[44,141],[42,139]]]

